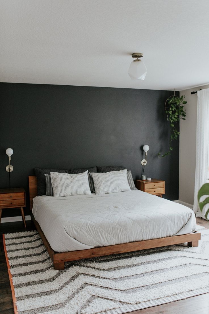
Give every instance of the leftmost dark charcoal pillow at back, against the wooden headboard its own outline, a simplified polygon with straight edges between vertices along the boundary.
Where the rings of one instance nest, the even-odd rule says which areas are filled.
[[[37,194],[38,196],[46,195],[46,181],[44,174],[50,175],[50,172],[68,173],[67,170],[60,169],[39,169],[35,168],[35,175],[37,177]]]

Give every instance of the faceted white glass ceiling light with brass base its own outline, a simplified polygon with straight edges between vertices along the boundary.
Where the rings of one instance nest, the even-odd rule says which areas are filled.
[[[133,60],[131,62],[130,67],[128,69],[128,74],[132,80],[135,80],[135,79],[144,80],[147,74],[147,68],[144,62],[138,59],[141,57],[143,57],[143,53],[141,52],[132,53],[132,58],[136,58],[136,60]]]

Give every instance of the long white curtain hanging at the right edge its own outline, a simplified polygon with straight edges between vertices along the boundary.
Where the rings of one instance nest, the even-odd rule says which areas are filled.
[[[209,178],[209,88],[197,91],[197,139],[196,139],[196,171],[195,171],[195,196],[193,210],[197,217],[205,218],[209,205],[201,212],[197,202],[197,194]],[[205,199],[206,197],[202,197]]]

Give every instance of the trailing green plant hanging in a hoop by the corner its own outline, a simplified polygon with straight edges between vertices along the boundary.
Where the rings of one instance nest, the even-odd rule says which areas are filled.
[[[181,97],[178,97],[175,95],[174,92],[174,95],[168,97],[165,102],[165,112],[167,114],[167,120],[170,122],[171,133],[169,150],[162,155],[161,153],[158,153],[159,158],[164,158],[171,154],[171,151],[173,150],[171,142],[179,137],[180,133],[175,126],[180,119],[185,120],[186,112],[184,110],[184,105],[187,103],[187,101],[185,101],[184,99],[185,96],[182,95]]]

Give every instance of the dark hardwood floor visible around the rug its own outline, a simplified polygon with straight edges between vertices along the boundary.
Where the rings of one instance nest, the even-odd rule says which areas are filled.
[[[198,225],[204,226],[205,228],[209,229],[208,221],[197,217],[196,222]],[[2,234],[9,232],[35,230],[35,227],[30,220],[26,221],[26,225],[27,225],[26,229],[24,228],[22,222],[2,223],[0,226],[0,314],[14,314],[12,292],[10,288],[7,264],[4,255]],[[171,313],[209,314],[209,293],[131,312],[131,314],[171,314]]]

